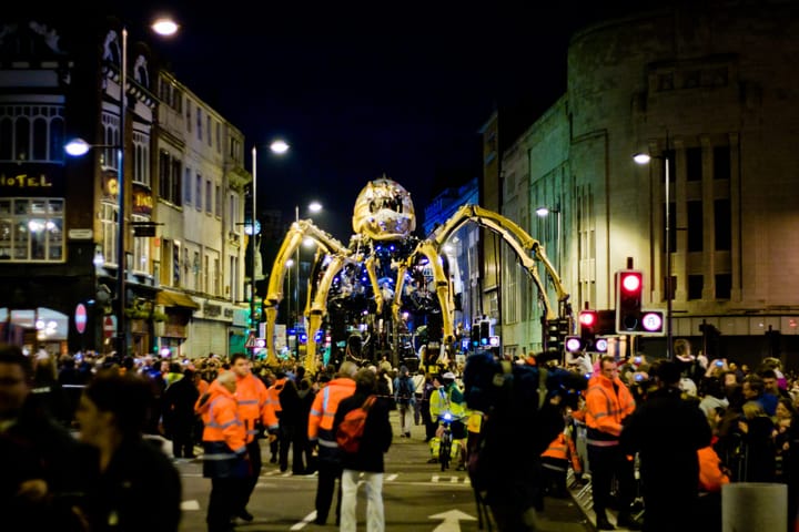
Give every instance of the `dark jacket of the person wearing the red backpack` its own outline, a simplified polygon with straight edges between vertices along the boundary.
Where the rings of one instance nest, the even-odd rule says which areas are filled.
[[[356,391],[354,396],[347,397],[338,403],[333,419],[333,433],[338,429],[344,416],[361,407],[367,397],[367,395]],[[386,401],[374,401],[366,417],[364,436],[358,451],[355,453],[342,452],[343,469],[382,473],[385,471],[383,454],[388,451],[392,438],[394,438],[394,433],[388,421],[388,405]]]

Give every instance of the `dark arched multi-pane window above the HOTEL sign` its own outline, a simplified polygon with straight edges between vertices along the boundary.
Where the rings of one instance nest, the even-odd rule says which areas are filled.
[[[0,105],[0,162],[62,162],[63,116],[63,105]]]

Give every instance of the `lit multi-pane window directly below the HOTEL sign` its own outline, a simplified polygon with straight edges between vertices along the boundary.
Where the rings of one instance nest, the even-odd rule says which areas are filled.
[[[64,201],[0,200],[0,260],[63,262]]]

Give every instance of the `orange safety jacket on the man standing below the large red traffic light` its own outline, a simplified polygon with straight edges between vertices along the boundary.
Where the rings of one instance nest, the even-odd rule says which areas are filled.
[[[614,383],[618,392],[614,390]],[[611,381],[604,375],[595,375],[588,382],[585,398],[588,443],[618,442],[621,420],[635,411],[635,399],[621,379],[616,377]]]

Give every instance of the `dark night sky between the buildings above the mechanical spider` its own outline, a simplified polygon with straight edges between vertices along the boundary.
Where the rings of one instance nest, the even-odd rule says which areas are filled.
[[[114,1],[135,34],[161,11],[181,25],[152,39],[178,79],[259,152],[259,211],[317,200],[343,242],[363,186],[383,174],[428,201],[481,173],[478,130],[520,102],[539,114],[566,88],[575,29],[607,14],[577,3]],[[519,2],[520,3],[520,2]],[[536,2],[537,3],[537,2]],[[616,2],[615,2],[616,3]],[[281,136],[289,156],[266,145]],[[301,212],[301,216],[303,213]],[[421,232],[419,232],[421,233]]]

